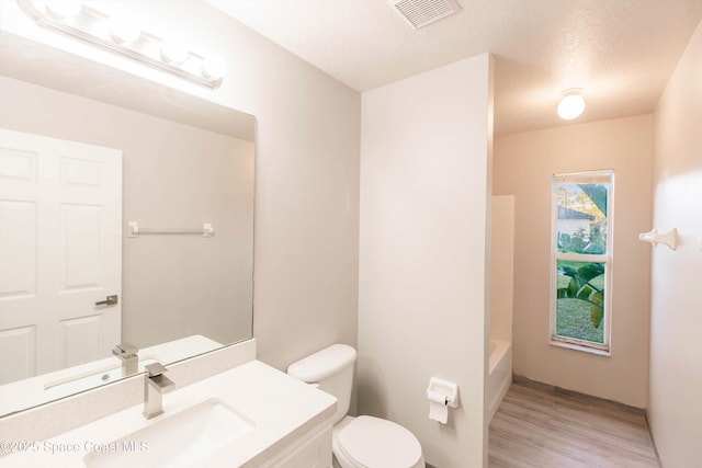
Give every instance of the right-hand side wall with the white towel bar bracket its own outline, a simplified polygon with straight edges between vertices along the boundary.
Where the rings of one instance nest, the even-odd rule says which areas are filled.
[[[653,250],[649,420],[666,467],[702,459],[702,23],[655,112],[654,222],[678,249]]]

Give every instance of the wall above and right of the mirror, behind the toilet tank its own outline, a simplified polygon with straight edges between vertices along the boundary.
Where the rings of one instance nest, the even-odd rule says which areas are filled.
[[[201,1],[125,4],[144,24],[219,54],[229,70],[222,87],[43,31],[15,2],[0,1],[0,28],[256,115],[258,356],[284,368],[332,342],[355,344],[360,94]]]

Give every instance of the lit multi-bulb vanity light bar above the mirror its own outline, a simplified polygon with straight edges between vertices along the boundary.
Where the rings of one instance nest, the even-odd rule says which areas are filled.
[[[177,39],[141,28],[135,19],[102,11],[101,2],[18,0],[18,3],[47,30],[120,53],[197,84],[217,88],[226,75],[222,58],[194,52]]]

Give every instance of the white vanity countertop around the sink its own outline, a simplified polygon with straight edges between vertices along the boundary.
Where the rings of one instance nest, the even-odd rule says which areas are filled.
[[[3,468],[82,467],[83,456],[92,447],[109,444],[207,399],[218,398],[252,420],[256,427],[210,454],[197,466],[256,467],[317,425],[331,424],[336,411],[336,398],[260,361],[248,362],[181,389],[178,389],[178,381],[176,386],[176,390],[163,395],[165,413],[160,416],[146,420],[141,415],[141,404],[131,407],[47,441],[37,441],[36,452],[8,455],[0,464]]]

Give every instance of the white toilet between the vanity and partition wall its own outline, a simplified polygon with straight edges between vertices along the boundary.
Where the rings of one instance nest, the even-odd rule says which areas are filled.
[[[287,367],[287,374],[337,398],[332,452],[340,468],[424,468],[421,445],[401,425],[381,418],[347,415],[355,350],[332,344]]]

